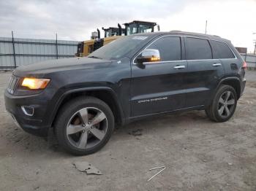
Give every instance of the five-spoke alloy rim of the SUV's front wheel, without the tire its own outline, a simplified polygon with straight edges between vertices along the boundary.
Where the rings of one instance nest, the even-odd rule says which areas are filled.
[[[105,114],[94,107],[80,109],[67,123],[67,139],[72,146],[90,149],[104,139],[108,129]]]

